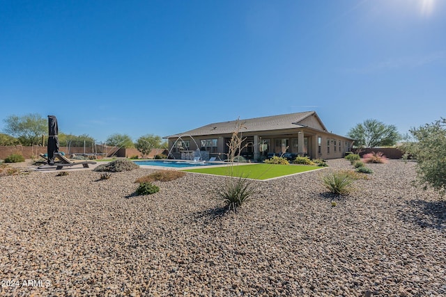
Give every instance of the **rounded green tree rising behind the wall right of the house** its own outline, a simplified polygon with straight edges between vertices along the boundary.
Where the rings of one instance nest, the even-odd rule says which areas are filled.
[[[357,124],[347,136],[355,139],[357,147],[366,148],[395,145],[401,139],[397,127],[372,119]]]

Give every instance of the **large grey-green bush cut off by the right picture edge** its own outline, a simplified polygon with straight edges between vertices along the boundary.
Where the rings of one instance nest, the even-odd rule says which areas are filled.
[[[446,193],[446,119],[417,129],[410,129],[415,141],[405,143],[401,149],[406,158],[417,160],[417,183],[425,189],[432,186],[440,195]]]

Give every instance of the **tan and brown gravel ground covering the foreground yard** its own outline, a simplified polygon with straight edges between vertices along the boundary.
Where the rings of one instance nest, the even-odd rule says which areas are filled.
[[[0,296],[446,296],[446,201],[415,163],[371,164],[344,198],[330,168],[267,182],[237,214],[225,177],[66,170],[0,177]],[[331,201],[337,202],[332,207]]]

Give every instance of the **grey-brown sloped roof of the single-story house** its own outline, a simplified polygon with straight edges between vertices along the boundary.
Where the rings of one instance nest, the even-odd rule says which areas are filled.
[[[269,131],[269,130],[282,130],[282,129],[295,129],[307,127],[302,125],[302,120],[314,115],[323,131],[327,131],[323,125],[321,119],[316,114],[316,111],[306,111],[302,113],[288,113],[285,115],[271,115],[268,117],[251,118],[246,120],[232,120],[229,122],[215,122],[197,129],[185,131],[181,134],[174,134],[165,138],[179,137],[179,136],[201,136],[201,135],[214,135],[214,134],[232,134],[236,127],[243,124],[242,132],[253,131]]]

